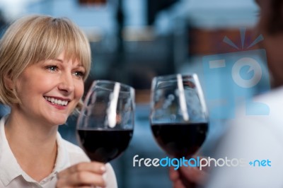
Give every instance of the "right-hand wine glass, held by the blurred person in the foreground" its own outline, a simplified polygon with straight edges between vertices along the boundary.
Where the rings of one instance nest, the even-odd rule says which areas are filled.
[[[151,130],[175,158],[192,156],[204,142],[208,113],[197,74],[157,76],[151,83]]]

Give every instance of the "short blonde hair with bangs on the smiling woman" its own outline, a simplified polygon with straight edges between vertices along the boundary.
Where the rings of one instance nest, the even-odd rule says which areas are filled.
[[[91,69],[91,48],[86,35],[71,20],[34,15],[13,22],[0,40],[0,102],[9,106],[21,103],[16,90],[6,86],[6,76],[16,83],[26,67],[56,59],[62,52],[81,62],[85,81]]]

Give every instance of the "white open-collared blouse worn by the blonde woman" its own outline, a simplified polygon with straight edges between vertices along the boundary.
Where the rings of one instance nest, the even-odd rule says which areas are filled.
[[[7,117],[7,116],[6,116]],[[6,117],[0,121],[0,187],[45,187],[54,188],[57,182],[57,173],[81,162],[89,162],[89,158],[79,146],[62,139],[57,133],[57,159],[52,173],[45,179],[37,182],[27,175],[18,164],[6,139],[4,124]],[[108,188],[116,188],[117,180],[112,166],[106,164],[106,183]]]

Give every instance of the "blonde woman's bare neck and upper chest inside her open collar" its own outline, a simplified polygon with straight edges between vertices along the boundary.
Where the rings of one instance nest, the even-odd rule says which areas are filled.
[[[30,177],[40,181],[50,175],[57,157],[57,126],[47,126],[11,110],[5,134],[18,164]]]

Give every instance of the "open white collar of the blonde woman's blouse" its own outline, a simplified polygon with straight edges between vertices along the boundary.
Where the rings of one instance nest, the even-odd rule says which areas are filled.
[[[8,145],[8,141],[6,139],[4,125],[8,115],[2,117],[0,120],[0,180],[3,182],[5,186],[7,186],[12,180],[14,180],[18,176],[23,176],[23,178],[27,182],[36,182],[28,176],[18,164],[15,156],[13,155],[10,146]],[[56,163],[54,165],[54,170],[46,179],[54,177],[57,173],[67,166],[70,165],[68,153],[66,151],[66,147],[64,146],[64,142],[59,132],[57,132],[57,158]]]

